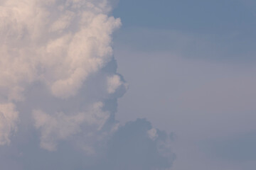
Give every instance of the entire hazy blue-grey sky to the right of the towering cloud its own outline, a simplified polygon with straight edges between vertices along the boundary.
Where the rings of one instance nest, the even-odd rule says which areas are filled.
[[[255,169],[255,1],[119,1],[122,123],[174,132],[171,169]]]

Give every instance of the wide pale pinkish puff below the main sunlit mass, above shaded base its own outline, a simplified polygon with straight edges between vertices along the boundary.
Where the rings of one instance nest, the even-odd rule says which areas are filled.
[[[102,111],[102,106],[101,102],[95,103],[90,111],[76,115],[65,115],[64,113],[48,115],[43,111],[33,111],[36,128],[41,130],[41,147],[49,151],[55,150],[58,140],[65,140],[80,132],[82,123],[90,127],[94,126],[90,129],[90,136],[94,131],[102,130],[103,125],[110,117],[108,112]],[[88,149],[92,146],[83,147]]]

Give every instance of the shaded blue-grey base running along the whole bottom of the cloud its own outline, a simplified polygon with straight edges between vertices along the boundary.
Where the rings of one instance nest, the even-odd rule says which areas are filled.
[[[159,143],[168,140],[169,135],[158,130],[156,140],[147,134],[151,123],[145,119],[129,122],[117,130],[102,147],[100,157],[88,156],[71,141],[60,142],[56,152],[41,149],[38,135],[17,134],[9,146],[0,147],[2,170],[155,170],[167,169],[174,162],[175,154],[161,153]],[[26,135],[26,138],[24,137]]]

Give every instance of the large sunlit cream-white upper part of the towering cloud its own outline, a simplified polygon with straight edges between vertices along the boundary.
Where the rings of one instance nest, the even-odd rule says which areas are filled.
[[[8,0],[0,6],[2,102],[26,100],[37,81],[57,98],[78,93],[90,75],[112,59],[120,20],[107,1]]]

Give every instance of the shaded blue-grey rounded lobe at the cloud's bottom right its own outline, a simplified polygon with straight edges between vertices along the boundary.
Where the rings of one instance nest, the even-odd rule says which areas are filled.
[[[170,136],[156,130],[152,140],[149,134],[154,130],[144,119],[119,128],[109,142],[107,159],[103,164],[114,170],[168,169],[175,159],[169,147]]]

